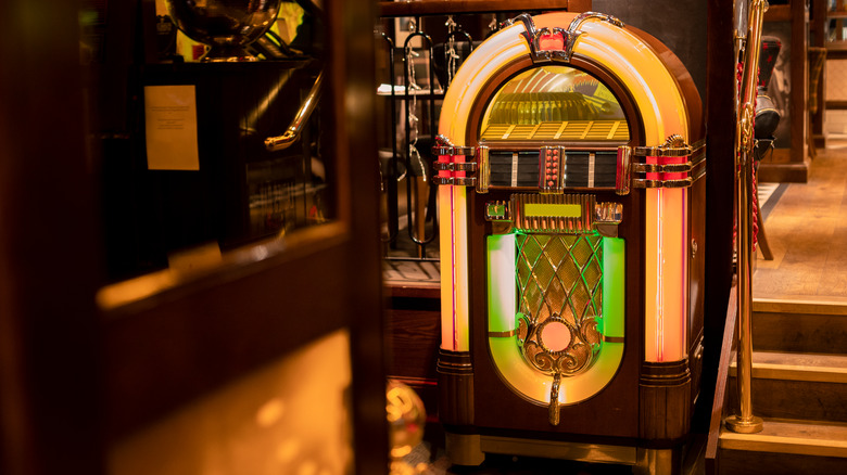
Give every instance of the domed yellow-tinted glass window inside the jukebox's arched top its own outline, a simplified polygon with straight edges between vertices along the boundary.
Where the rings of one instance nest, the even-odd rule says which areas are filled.
[[[570,66],[528,69],[485,110],[482,140],[628,141],[620,103],[594,76]]]

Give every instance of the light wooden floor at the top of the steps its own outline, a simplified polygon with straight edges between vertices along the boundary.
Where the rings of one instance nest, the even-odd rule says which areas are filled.
[[[764,220],[773,260],[757,253],[754,298],[847,301],[847,140],[818,150]]]

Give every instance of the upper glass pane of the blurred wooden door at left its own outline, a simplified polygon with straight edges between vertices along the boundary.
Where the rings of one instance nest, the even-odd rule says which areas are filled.
[[[87,0],[80,14],[105,283],[212,267],[338,219],[317,20],[279,2],[193,16],[197,2],[170,3],[139,21],[161,42],[143,56],[121,23],[131,9]]]

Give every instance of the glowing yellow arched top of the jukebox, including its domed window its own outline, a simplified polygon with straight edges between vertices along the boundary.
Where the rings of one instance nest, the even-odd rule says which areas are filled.
[[[452,145],[704,139],[691,75],[650,35],[599,13],[523,14],[509,23],[475,50],[447,90],[439,131]]]

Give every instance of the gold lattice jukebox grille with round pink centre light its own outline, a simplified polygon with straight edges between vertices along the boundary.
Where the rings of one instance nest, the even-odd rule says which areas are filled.
[[[603,300],[603,238],[518,234],[518,344],[539,371],[576,375],[594,362]]]

